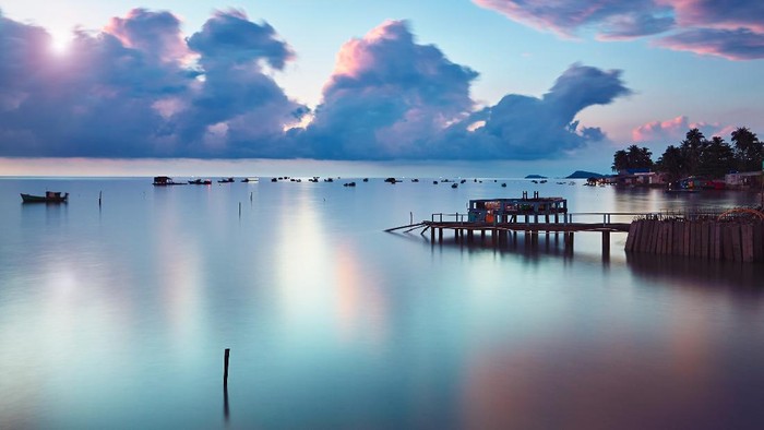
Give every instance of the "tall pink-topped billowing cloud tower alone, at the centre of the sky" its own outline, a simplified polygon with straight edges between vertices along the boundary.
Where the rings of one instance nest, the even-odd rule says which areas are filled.
[[[473,108],[474,70],[418,45],[405,21],[389,21],[346,43],[323,101],[302,139],[312,156],[417,157]]]

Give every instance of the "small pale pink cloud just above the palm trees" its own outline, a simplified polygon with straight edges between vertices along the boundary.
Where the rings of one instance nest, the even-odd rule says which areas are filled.
[[[632,140],[641,143],[673,144],[682,141],[691,129],[699,129],[706,138],[728,136],[735,127],[708,122],[690,122],[688,117],[679,116],[665,121],[647,122],[632,130]]]

